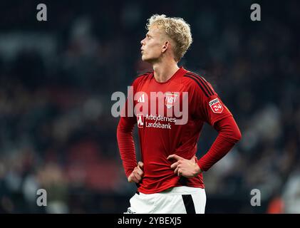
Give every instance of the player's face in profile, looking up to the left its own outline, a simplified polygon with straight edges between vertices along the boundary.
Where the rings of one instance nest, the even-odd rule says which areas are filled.
[[[162,55],[162,47],[164,46],[164,35],[160,28],[151,26],[146,37],[140,41],[142,47],[142,60],[147,62],[154,62]]]

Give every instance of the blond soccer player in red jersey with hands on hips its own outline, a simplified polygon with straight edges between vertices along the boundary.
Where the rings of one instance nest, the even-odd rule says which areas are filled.
[[[140,95],[134,99],[134,106],[147,103],[150,107],[154,100],[157,104],[162,101],[167,113],[176,103],[185,101],[187,92],[187,109],[182,110],[187,112],[187,121],[177,124],[176,115],[161,115],[161,107],[151,113],[152,109],[145,106],[137,108],[133,117],[120,118],[117,129],[120,156],[128,182],[138,186],[138,192],[130,199],[128,213],[205,213],[202,172],[224,157],[240,140],[241,133],[210,83],[177,66],[192,43],[190,25],[180,18],[153,15],[147,28],[148,33],[140,42],[141,54],[143,61],[152,64],[153,71],[133,82],[133,95]],[[153,99],[150,94],[153,92],[164,95]],[[133,141],[135,123],[138,123],[140,162],[136,160]],[[218,136],[210,150],[197,160],[197,141],[204,123],[217,130]]]

